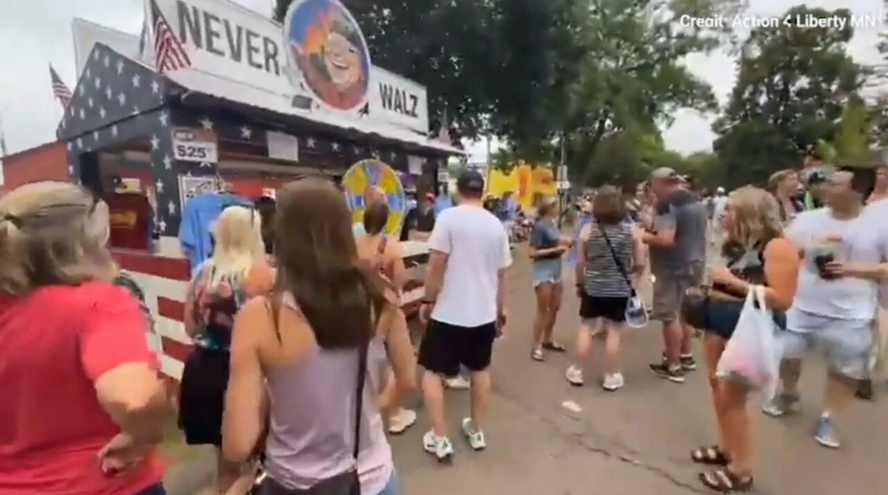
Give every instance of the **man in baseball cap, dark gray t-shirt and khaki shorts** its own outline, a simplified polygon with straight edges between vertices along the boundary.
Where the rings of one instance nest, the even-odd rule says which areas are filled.
[[[688,287],[699,285],[706,260],[706,208],[683,186],[682,178],[668,167],[651,174],[656,197],[653,228],[642,234],[650,247],[654,275],[652,319],[662,321],[665,352],[651,371],[676,383],[696,369],[691,354],[693,329],[678,318]]]

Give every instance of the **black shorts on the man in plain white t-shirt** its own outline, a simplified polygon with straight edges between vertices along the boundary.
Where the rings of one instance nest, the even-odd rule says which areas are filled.
[[[459,374],[459,365],[469,371],[484,371],[496,339],[496,322],[481,326],[456,326],[432,320],[419,344],[419,365],[444,376]]]

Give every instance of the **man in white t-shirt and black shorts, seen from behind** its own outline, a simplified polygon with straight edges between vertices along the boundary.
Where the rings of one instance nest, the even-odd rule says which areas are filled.
[[[432,430],[423,446],[440,461],[450,460],[443,379],[465,366],[472,381],[472,416],[463,433],[480,451],[487,444],[481,426],[490,402],[490,356],[505,322],[506,271],[511,265],[509,236],[496,216],[484,209],[484,177],[473,170],[456,180],[459,206],[440,213],[429,237],[425,298],[420,318],[429,326],[419,347],[425,408]]]

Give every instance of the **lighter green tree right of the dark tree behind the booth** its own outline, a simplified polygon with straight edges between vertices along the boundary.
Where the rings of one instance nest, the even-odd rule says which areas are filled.
[[[744,6],[718,0],[591,2],[582,31],[586,56],[571,88],[573,105],[566,112],[568,166],[575,181],[595,182],[597,148],[606,138],[630,128],[667,125],[680,107],[717,109],[709,85],[687,70],[684,59],[718,47],[732,34],[681,28],[678,19],[732,15]],[[613,143],[624,141],[615,138]]]

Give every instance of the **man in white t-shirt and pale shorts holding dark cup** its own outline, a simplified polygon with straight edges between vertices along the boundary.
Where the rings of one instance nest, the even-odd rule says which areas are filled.
[[[815,439],[830,448],[840,446],[832,415],[849,405],[860,381],[869,377],[879,279],[888,268],[884,222],[864,210],[872,184],[872,170],[837,170],[826,184],[829,206],[800,214],[787,231],[803,264],[782,334],[783,391],[765,413],[797,410],[801,359],[818,345],[827,353],[829,377]]]

